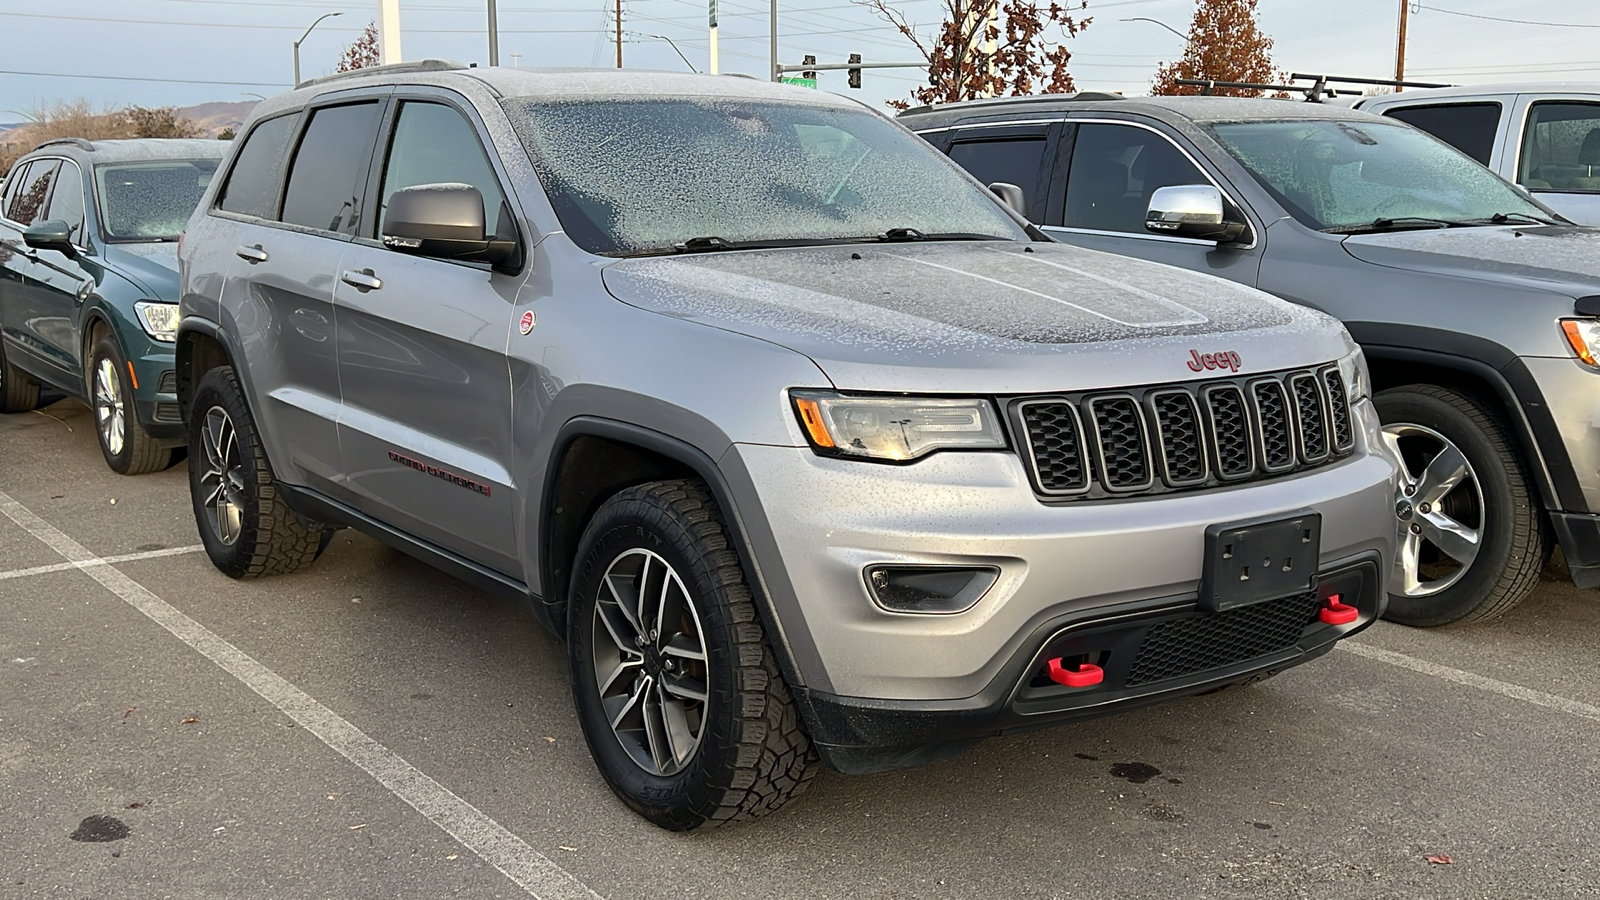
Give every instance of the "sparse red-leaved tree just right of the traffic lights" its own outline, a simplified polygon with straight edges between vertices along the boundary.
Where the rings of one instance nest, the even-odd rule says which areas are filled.
[[[941,0],[944,24],[933,35],[918,35],[890,0],[854,0],[894,26],[928,61],[928,86],[912,91],[917,102],[954,102],[984,96],[1069,93],[1075,90],[1067,62],[1072,51],[1062,40],[1090,26],[1077,18],[1088,3],[1050,0]],[[906,109],[906,101],[890,101]]]

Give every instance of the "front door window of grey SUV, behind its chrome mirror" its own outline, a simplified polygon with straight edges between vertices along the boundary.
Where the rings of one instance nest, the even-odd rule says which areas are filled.
[[[1146,234],[1144,215],[1157,187],[1211,181],[1171,141],[1131,125],[1080,125],[1067,168],[1067,211],[1061,224]]]

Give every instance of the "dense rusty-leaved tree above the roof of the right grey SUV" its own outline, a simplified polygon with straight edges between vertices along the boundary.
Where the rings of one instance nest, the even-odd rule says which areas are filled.
[[[1176,62],[1155,70],[1152,94],[1197,94],[1202,88],[1178,78],[1211,82],[1282,83],[1272,66],[1272,38],[1256,24],[1259,0],[1195,0],[1189,43]],[[1213,88],[1218,96],[1261,96],[1248,88]]]

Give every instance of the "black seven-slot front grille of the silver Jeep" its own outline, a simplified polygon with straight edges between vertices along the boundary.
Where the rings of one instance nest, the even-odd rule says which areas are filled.
[[[1010,402],[1034,490],[1096,500],[1304,471],[1355,448],[1338,368]]]

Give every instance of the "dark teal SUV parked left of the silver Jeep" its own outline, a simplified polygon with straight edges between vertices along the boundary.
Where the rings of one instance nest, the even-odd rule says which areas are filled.
[[[0,413],[42,386],[94,412],[106,464],[136,476],[184,445],[173,380],[178,234],[222,141],[40,144],[0,189]]]

